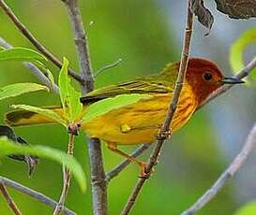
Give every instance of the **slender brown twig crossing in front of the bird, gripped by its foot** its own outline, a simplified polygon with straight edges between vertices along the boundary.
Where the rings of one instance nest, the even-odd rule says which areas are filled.
[[[158,136],[156,148],[153,150],[153,152],[149,158],[148,165],[146,166],[146,174],[148,176],[150,175],[150,172],[152,171],[153,166],[157,164],[158,156],[159,156],[159,153],[162,149],[162,146],[163,146],[165,140],[167,139],[168,136],[170,136],[170,134],[168,134],[168,132],[170,130],[170,125],[173,121],[173,116],[174,116],[175,109],[177,107],[178,98],[181,93],[182,85],[183,85],[185,77],[186,77],[189,48],[190,48],[192,28],[193,28],[193,13],[190,11],[190,3],[191,3],[191,1],[188,0],[187,23],[186,23],[186,29],[184,32],[183,50],[182,50],[182,55],[181,55],[181,61],[180,61],[181,63],[180,63],[180,67],[179,67],[178,78],[176,80],[173,98],[172,98],[172,101],[170,102],[170,107],[168,109],[166,119],[163,123],[161,132]],[[126,207],[122,211],[123,215],[128,214],[130,209],[134,206],[135,200],[137,199],[140,191],[142,190],[143,184],[146,181],[146,179],[148,179],[148,177],[144,177],[144,178],[141,178],[138,180],[133,192],[130,194],[130,196],[128,198]]]

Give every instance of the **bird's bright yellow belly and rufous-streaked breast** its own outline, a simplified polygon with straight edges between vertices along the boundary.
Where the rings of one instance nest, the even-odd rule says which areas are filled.
[[[83,129],[91,137],[117,144],[151,143],[163,123],[172,94],[157,94],[152,98],[114,109],[92,122],[84,122]],[[195,111],[196,104],[188,93],[180,96],[171,125],[179,129]]]

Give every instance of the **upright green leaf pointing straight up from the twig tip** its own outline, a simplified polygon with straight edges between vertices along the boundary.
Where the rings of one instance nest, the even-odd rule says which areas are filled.
[[[68,60],[64,58],[59,75],[60,99],[64,108],[64,116],[69,122],[74,122],[83,109],[80,102],[81,93],[71,85],[68,77]]]

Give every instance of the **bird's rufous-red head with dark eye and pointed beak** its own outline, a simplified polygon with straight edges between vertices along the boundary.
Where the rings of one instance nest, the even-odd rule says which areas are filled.
[[[240,79],[224,77],[217,65],[201,58],[190,58],[188,60],[186,80],[198,99],[198,105],[223,84],[244,82]]]

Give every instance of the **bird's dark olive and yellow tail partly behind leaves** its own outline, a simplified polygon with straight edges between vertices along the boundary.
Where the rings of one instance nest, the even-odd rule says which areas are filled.
[[[63,115],[63,108],[61,107],[45,107],[47,109],[52,109],[54,112]],[[23,126],[23,125],[33,125],[33,124],[46,124],[46,123],[56,123],[52,119],[42,116],[38,113],[29,110],[13,110],[5,115],[5,121],[10,126]]]

